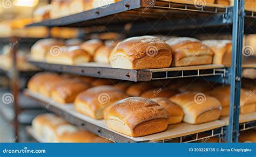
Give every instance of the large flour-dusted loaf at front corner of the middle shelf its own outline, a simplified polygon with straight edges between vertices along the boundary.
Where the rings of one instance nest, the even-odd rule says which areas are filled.
[[[171,48],[153,36],[132,37],[119,42],[109,56],[113,68],[168,68],[172,62]]]

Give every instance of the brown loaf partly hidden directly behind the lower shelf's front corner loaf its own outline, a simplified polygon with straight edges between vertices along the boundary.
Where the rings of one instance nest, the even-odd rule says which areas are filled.
[[[163,97],[153,98],[152,101],[157,102],[169,113],[170,118],[168,124],[177,124],[182,122],[184,112],[180,106],[174,104],[168,98]]]

